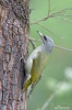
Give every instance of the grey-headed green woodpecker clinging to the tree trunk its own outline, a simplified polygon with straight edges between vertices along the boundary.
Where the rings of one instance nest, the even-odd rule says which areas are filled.
[[[23,92],[39,80],[43,70],[48,64],[49,55],[55,47],[53,40],[50,36],[44,35],[39,31],[37,31],[37,33],[41,37],[41,44],[36,47],[27,58],[25,69],[29,77],[24,82]]]

